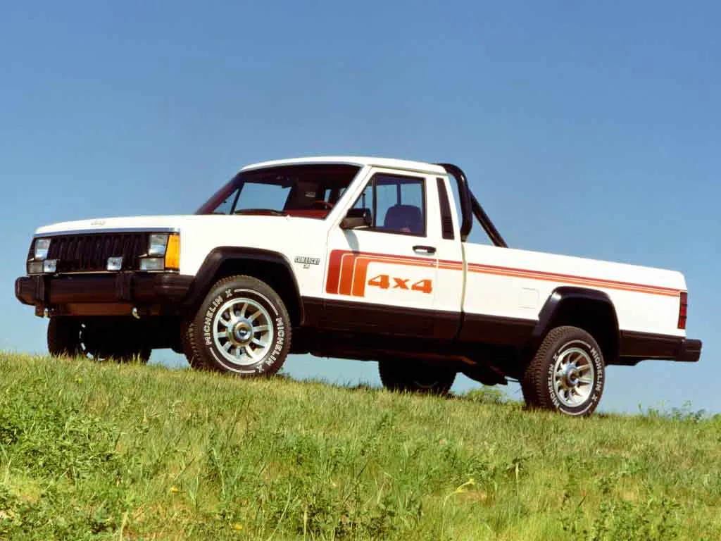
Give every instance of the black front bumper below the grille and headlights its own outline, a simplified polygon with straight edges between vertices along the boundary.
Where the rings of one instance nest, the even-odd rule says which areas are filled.
[[[175,273],[95,273],[21,276],[15,296],[23,304],[58,314],[87,312],[115,315],[132,307],[177,308],[187,297],[193,276]],[[115,307],[115,309],[113,309]],[[131,308],[128,308],[131,307]]]

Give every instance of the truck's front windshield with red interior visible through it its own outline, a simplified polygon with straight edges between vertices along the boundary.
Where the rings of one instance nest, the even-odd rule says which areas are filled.
[[[302,164],[236,175],[195,214],[269,214],[324,219],[360,167]]]

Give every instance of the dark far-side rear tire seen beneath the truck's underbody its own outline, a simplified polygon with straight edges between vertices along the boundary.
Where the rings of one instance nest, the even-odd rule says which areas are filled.
[[[456,371],[423,362],[378,361],[383,386],[397,392],[446,395],[456,379]]]

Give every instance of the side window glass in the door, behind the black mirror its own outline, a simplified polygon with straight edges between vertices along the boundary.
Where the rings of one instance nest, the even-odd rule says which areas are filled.
[[[369,229],[425,237],[424,179],[400,175],[373,175],[353,208],[371,211]]]

